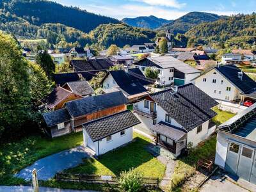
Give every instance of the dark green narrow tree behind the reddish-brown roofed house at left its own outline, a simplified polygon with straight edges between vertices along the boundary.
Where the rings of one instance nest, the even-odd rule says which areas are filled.
[[[55,63],[52,61],[51,56],[46,50],[38,51],[38,53],[36,54],[36,63],[44,69],[49,79],[52,79],[52,76],[55,72]]]

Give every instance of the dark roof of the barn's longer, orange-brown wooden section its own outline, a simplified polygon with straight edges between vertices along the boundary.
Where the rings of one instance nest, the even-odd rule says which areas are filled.
[[[103,109],[126,104],[127,99],[122,92],[112,92],[83,99],[72,100],[66,103],[68,112],[73,117],[95,113]]]

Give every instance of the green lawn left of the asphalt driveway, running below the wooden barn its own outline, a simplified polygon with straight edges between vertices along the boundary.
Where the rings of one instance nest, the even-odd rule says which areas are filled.
[[[0,145],[0,184],[24,183],[24,180],[12,177],[12,175],[42,157],[76,147],[82,143],[83,134],[80,132],[52,140],[41,136],[31,136]]]

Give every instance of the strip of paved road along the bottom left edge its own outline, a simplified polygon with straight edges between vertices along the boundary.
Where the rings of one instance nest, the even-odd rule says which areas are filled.
[[[26,186],[0,186],[1,192],[33,192],[33,188]],[[73,189],[39,188],[40,192],[82,192]],[[83,190],[83,192],[95,192]]]

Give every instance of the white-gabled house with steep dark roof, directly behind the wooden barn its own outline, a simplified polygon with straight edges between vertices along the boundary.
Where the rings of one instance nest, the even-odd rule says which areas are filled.
[[[147,95],[148,84],[154,84],[154,81],[147,79],[139,68],[133,68],[125,72],[124,70],[109,71],[108,75],[102,80],[104,92],[120,90],[125,97],[132,102],[143,95]]]

